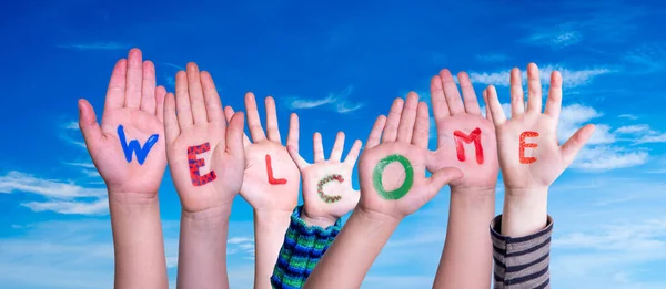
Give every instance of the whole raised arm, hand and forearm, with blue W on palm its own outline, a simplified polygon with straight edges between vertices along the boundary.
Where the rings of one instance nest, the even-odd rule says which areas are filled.
[[[162,107],[152,62],[132,49],[115,63],[101,126],[79,100],[79,125],[107,183],[115,255],[115,288],[168,288],[158,189],[167,167]]]

